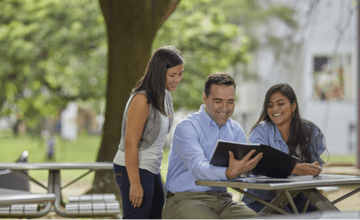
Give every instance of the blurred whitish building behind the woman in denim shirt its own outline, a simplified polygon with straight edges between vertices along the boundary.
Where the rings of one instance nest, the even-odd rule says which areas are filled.
[[[357,6],[356,1],[277,1],[295,10],[298,29],[281,22],[259,26],[258,36],[275,34],[283,48],[261,47],[248,65],[255,79],[237,74],[235,120],[250,132],[265,92],[276,83],[295,90],[303,118],[324,132],[328,151],[357,151]],[[239,68],[241,69],[241,68]],[[237,71],[233,69],[233,71]]]

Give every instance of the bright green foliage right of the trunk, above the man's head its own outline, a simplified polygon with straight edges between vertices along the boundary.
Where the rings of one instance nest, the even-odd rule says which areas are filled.
[[[184,78],[172,93],[174,109],[198,109],[209,74],[251,60],[247,36],[211,4],[209,0],[181,0],[153,41],[154,50],[173,45],[186,60]]]

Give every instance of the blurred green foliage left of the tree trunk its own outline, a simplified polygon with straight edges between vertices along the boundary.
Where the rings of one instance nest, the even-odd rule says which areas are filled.
[[[0,116],[43,116],[106,88],[106,29],[96,0],[0,1]]]

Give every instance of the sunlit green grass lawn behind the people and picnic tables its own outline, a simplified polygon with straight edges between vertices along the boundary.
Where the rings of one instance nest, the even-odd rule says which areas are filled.
[[[18,159],[22,151],[29,151],[29,163],[43,162],[74,162],[74,163],[92,163],[97,158],[97,152],[101,142],[101,136],[80,135],[76,141],[71,142],[56,136],[55,157],[48,160],[46,156],[46,142],[40,137],[22,134],[14,137],[11,133],[0,132],[0,163],[12,163]],[[164,149],[162,158],[161,175],[165,181],[167,174],[167,156],[169,148]],[[330,155],[328,163],[356,163],[356,154],[351,155]],[[74,179],[85,170],[65,170],[62,171],[62,179]],[[40,180],[48,179],[46,170],[30,170],[29,174]],[[85,177],[85,180],[92,181],[94,173]]]

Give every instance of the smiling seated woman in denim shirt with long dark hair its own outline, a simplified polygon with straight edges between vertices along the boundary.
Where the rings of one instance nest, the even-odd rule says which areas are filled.
[[[258,122],[251,128],[249,142],[267,144],[279,151],[299,158],[292,174],[317,176],[321,172],[324,160],[321,153],[326,150],[324,137],[317,125],[300,117],[298,101],[290,85],[273,85],[265,95],[263,110]],[[277,191],[247,189],[248,193],[270,202]],[[293,201],[296,208],[303,210],[307,198],[299,193]],[[255,212],[260,212],[264,205],[244,195],[242,202]],[[293,212],[291,205],[284,207]],[[313,212],[317,207],[309,202],[306,212]]]

